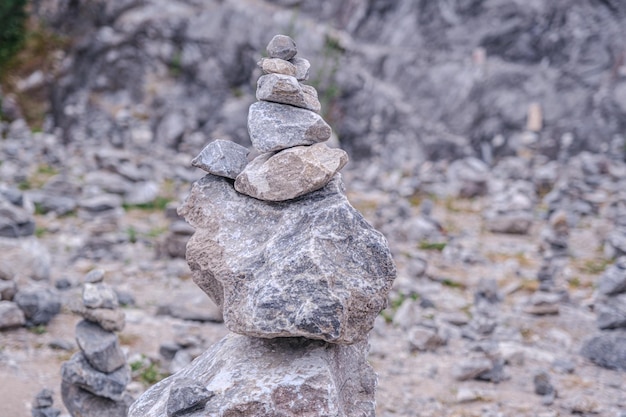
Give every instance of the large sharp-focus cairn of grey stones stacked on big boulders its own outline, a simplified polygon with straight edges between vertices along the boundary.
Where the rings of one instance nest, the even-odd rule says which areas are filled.
[[[146,391],[129,416],[374,416],[367,335],[396,270],[387,241],[348,202],[343,150],[294,41],[262,59],[248,130],[192,161],[208,175],[179,213],[194,228],[194,282],[232,332]],[[234,181],[233,181],[234,180]]]

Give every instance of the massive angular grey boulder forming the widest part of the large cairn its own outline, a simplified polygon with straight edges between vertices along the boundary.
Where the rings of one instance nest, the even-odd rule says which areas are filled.
[[[387,241],[352,208],[339,176],[272,203],[207,175],[179,212],[196,228],[187,246],[193,279],[231,331],[353,343],[386,305],[396,274]]]

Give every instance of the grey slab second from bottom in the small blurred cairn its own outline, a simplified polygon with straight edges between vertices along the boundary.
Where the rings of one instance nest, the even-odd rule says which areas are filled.
[[[61,377],[64,382],[94,395],[120,401],[124,398],[126,385],[130,382],[130,367],[126,365],[105,374],[94,369],[82,352],[76,352],[61,366]]]

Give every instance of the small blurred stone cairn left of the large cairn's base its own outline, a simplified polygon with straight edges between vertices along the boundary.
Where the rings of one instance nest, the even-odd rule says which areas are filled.
[[[76,325],[80,351],[61,367],[61,396],[74,417],[124,417],[133,402],[126,391],[130,367],[115,332],[125,325],[114,289],[104,272],[85,277],[82,305],[72,306],[84,320]]]

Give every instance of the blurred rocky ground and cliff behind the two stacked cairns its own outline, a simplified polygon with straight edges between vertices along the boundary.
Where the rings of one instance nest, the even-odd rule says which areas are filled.
[[[398,264],[378,415],[623,417],[625,27],[619,0],[4,0],[3,410],[67,413],[94,271],[126,314],[130,394],[225,334],[175,209],[209,141],[250,145],[282,33]]]

